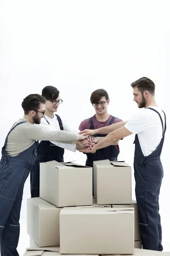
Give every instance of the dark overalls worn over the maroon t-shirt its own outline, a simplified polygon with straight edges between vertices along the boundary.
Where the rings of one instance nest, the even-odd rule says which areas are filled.
[[[111,118],[111,121],[109,122],[109,125],[113,123],[113,120],[115,117],[113,116]],[[93,122],[93,116],[90,118],[90,130],[94,130],[94,122]],[[107,134],[95,134],[94,137],[106,137]],[[109,159],[110,161],[117,161],[117,148],[114,145],[108,146],[106,148],[101,148],[96,151],[96,153],[87,153],[87,160],[85,165],[93,167],[93,161],[98,160],[105,160]]]

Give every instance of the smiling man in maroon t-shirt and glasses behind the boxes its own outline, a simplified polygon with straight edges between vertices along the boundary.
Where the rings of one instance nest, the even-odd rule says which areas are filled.
[[[85,129],[98,129],[108,125],[112,125],[116,122],[122,122],[122,119],[114,117],[108,113],[108,105],[110,99],[108,93],[103,89],[95,90],[91,94],[91,104],[94,107],[96,114],[91,118],[83,120],[79,125],[79,130],[83,131]],[[106,134],[95,134],[95,142],[99,142],[102,137]],[[92,138],[93,140],[93,138]],[[85,139],[86,142],[86,139]],[[88,151],[86,151],[88,152]],[[85,153],[86,154],[86,153]],[[93,161],[109,159],[110,161],[116,161],[119,154],[118,142],[114,145],[102,148],[96,151],[96,153],[87,153],[86,166],[93,167]]]

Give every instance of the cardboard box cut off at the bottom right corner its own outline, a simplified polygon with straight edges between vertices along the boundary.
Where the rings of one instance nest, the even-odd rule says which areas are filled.
[[[117,255],[113,254],[113,256]],[[123,254],[121,256],[127,256],[127,254]],[[155,250],[144,250],[135,248],[133,256],[170,256],[170,252],[159,252]]]

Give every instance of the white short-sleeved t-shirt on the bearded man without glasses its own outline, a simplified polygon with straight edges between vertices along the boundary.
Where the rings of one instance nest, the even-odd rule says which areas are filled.
[[[159,107],[149,106],[161,115],[163,125],[165,124],[164,113]],[[144,109],[132,116],[125,128],[133,134],[138,134],[139,143],[144,156],[150,155],[158,147],[162,138],[162,124],[159,114],[151,109]]]

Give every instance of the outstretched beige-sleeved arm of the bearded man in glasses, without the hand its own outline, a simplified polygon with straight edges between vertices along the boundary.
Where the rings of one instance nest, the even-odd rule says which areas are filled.
[[[60,143],[72,144],[73,141],[79,140],[79,134],[73,134],[68,131],[45,131],[34,125],[29,125],[27,128],[27,136],[33,140],[49,140],[57,141]]]

